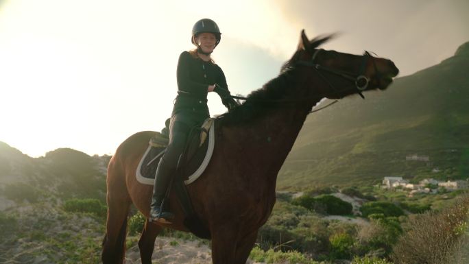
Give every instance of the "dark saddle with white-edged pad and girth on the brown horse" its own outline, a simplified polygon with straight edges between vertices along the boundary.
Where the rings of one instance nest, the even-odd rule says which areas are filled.
[[[173,191],[176,191],[182,206],[184,226],[193,232],[194,235],[203,239],[211,239],[211,234],[195,214],[186,185],[191,184],[202,175],[211,159],[213,148],[215,147],[214,121],[214,118],[206,119],[201,127],[191,129],[186,147],[184,147],[184,152],[182,152],[179,159],[176,175],[173,176],[171,187]],[[165,154],[169,142],[168,128],[169,121],[166,122],[166,128],[161,133],[157,132],[150,139],[149,146],[140,160],[139,167],[136,169],[136,179],[142,184],[154,184],[158,162],[163,154]]]

